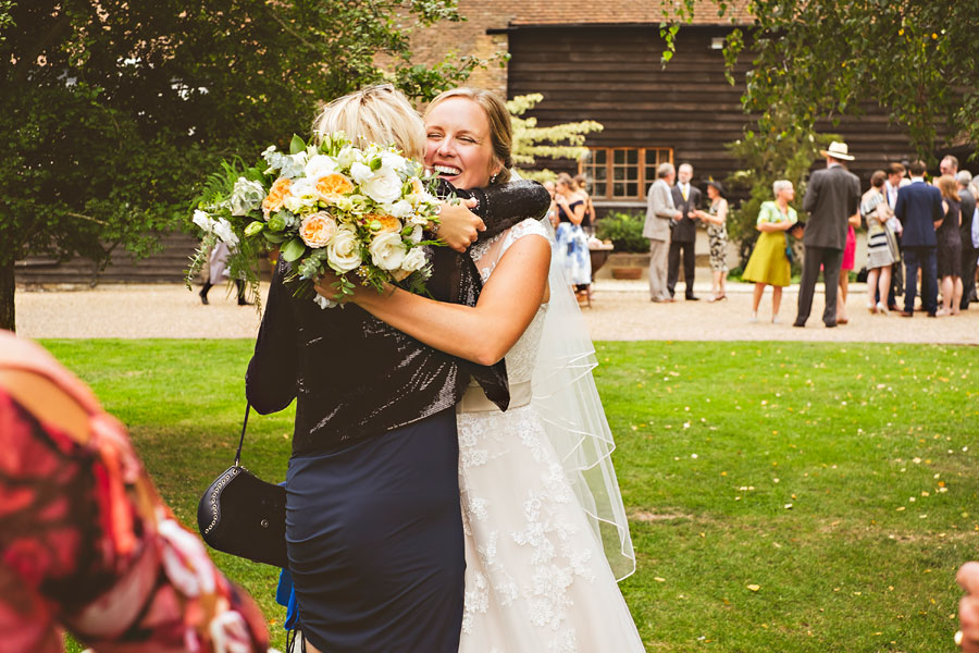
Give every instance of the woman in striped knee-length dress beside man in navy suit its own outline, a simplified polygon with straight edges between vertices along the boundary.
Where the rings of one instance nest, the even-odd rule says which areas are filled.
[[[897,242],[890,227],[893,217],[883,196],[887,173],[870,175],[870,189],[860,199],[860,214],[867,221],[867,308],[870,312],[888,315],[884,303],[891,287],[891,268],[897,262]],[[880,299],[875,299],[875,291]]]

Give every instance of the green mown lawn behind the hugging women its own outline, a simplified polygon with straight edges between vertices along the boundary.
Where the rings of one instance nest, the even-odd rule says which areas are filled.
[[[131,429],[175,513],[231,464],[246,341],[46,341]],[[648,651],[952,651],[979,558],[979,349],[598,343]],[[292,411],[244,463],[282,480]],[[276,572],[215,554],[278,646]],[[586,652],[587,653],[587,652]]]

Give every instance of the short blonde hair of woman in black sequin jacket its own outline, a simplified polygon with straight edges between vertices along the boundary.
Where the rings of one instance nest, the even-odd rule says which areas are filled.
[[[313,138],[344,132],[355,145],[394,145],[409,159],[425,158],[425,123],[391,84],[367,86],[326,104],[313,121]]]

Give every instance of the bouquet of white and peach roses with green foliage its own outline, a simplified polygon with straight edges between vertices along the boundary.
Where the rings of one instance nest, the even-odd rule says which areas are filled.
[[[293,136],[288,155],[275,146],[248,168],[224,162],[195,200],[193,222],[205,232],[191,259],[187,286],[218,241],[227,245],[228,273],[258,286],[263,251],[278,248],[293,263],[286,283],[322,307],[336,306],[354,287],[351,276],[379,292],[397,283],[423,293],[431,275],[423,236],[437,224],[439,200],[422,167],[394,147],[355,146],[343,132],[307,145]],[[339,278],[332,298],[313,292],[327,269]],[[256,292],[256,297],[258,293]]]

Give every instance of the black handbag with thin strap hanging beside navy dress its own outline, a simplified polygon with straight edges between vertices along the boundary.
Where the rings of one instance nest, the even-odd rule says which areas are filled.
[[[287,568],[285,488],[267,483],[240,465],[250,410],[249,404],[235,464],[214,479],[200,497],[197,528],[205,542],[218,551]]]

